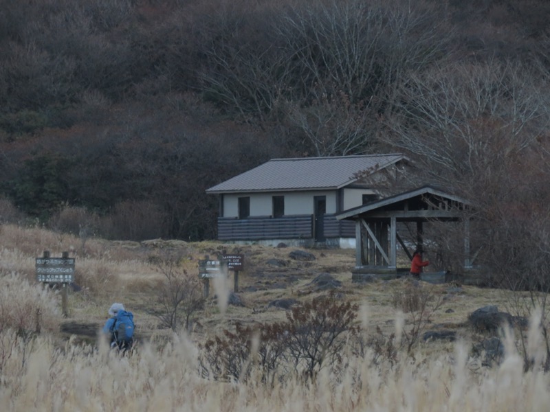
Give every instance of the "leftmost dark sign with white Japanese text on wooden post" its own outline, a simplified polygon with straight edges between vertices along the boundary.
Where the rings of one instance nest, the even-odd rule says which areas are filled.
[[[42,258],[36,258],[36,280],[43,283],[61,283],[61,307],[63,316],[67,317],[67,284],[74,281],[74,258],[69,252],[63,252],[61,258],[51,258],[49,251],[44,251]]]

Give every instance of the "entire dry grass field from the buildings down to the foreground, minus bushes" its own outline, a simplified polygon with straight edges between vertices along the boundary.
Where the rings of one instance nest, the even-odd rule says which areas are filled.
[[[34,259],[46,250],[54,257],[69,251],[76,258],[78,290],[69,288],[67,317],[59,291],[35,280]],[[0,225],[1,410],[548,410],[550,379],[539,366],[547,353],[540,329],[524,325],[487,334],[468,323],[483,306],[511,311],[517,300],[510,293],[404,278],[353,283],[354,251],[307,249],[314,258],[298,260],[291,256],[296,250],[217,242],[107,242]],[[192,313],[189,331],[168,328],[159,318],[166,273],[175,271],[195,282],[198,260],[222,251],[244,255],[239,293],[230,295],[231,273],[225,282],[212,280],[209,297]],[[331,275],[332,284],[317,282],[322,274]],[[284,323],[291,311],[274,305],[280,299],[299,306],[329,295],[357,305],[352,307],[359,343],[345,341],[336,361],[318,365],[313,375],[305,376],[298,367],[265,374],[258,367],[265,347],[257,336],[241,365],[248,373],[240,379],[204,367],[205,343],[214,336]],[[135,348],[124,356],[98,339],[115,301],[131,310],[136,322]],[[540,324],[533,319],[533,325]],[[456,339],[423,339],[426,332],[437,331]],[[495,336],[505,355],[487,362],[473,348]],[[240,344],[234,339],[235,346]],[[533,361],[527,371],[522,347]],[[234,353],[231,349],[220,356]]]

